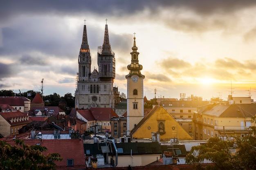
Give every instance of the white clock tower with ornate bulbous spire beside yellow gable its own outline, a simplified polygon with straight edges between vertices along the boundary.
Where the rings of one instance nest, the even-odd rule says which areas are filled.
[[[143,79],[141,74],[142,65],[139,64],[139,52],[136,46],[135,37],[133,38],[133,47],[131,54],[131,64],[127,66],[130,71],[126,75],[127,79],[127,134],[144,118],[144,97],[143,97]]]

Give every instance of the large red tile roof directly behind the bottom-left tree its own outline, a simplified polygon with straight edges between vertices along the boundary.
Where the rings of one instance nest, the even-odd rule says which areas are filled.
[[[11,145],[15,145],[15,141],[7,141]],[[25,140],[24,144],[26,145],[36,145],[45,146],[47,148],[46,152],[43,152],[45,155],[48,153],[59,153],[63,158],[62,161],[55,161],[57,170],[77,170],[85,169],[85,156],[83,149],[83,140],[82,139],[46,139],[46,140],[37,140],[30,139]],[[67,159],[74,160],[73,167],[67,167]]]

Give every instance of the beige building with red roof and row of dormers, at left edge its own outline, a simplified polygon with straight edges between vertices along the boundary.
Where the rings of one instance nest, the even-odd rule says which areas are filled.
[[[0,112],[0,135],[7,137],[18,135],[19,130],[32,120],[19,110],[13,112]]]

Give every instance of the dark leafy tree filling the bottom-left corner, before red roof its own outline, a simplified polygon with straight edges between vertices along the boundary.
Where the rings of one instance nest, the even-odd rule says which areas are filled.
[[[54,161],[62,161],[57,153],[44,155],[44,146],[28,146],[16,139],[16,145],[0,141],[0,170],[55,170]]]

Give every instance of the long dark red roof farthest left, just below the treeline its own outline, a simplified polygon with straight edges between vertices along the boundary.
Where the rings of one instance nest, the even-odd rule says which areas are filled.
[[[24,101],[30,101],[30,99],[24,96],[0,96],[0,104],[9,104],[10,106],[24,106]]]

